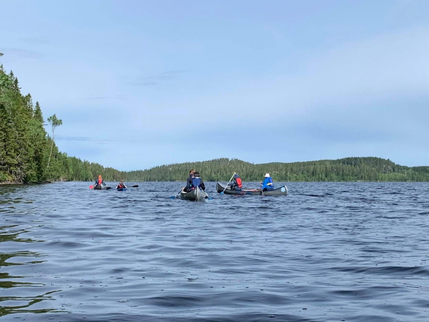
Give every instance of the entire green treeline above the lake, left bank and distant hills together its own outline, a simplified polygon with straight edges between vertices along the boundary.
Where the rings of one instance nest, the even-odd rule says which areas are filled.
[[[375,157],[267,164],[219,158],[118,171],[58,151],[54,137],[62,120],[54,114],[47,121],[39,102],[33,103],[30,94],[23,95],[18,78],[0,65],[0,182],[93,181],[98,174],[105,181],[185,181],[192,168],[204,181],[221,182],[228,181],[234,172],[243,181],[260,181],[267,172],[283,182],[429,181],[429,167],[406,167]]]

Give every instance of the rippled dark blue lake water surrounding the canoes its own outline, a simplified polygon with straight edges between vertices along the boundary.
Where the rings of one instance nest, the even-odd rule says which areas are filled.
[[[0,321],[429,321],[428,183],[90,184],[0,186]]]

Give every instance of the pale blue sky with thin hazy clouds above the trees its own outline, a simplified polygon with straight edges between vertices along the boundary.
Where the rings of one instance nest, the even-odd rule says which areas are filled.
[[[0,0],[61,151],[119,170],[429,158],[429,1]],[[47,128],[49,131],[49,128]]]

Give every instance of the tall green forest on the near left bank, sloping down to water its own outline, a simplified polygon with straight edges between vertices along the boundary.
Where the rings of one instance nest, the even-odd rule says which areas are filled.
[[[39,102],[21,94],[18,78],[0,65],[0,182],[92,181],[100,173],[106,180],[122,178],[118,170],[58,151],[54,130],[62,120],[54,114],[47,121]]]

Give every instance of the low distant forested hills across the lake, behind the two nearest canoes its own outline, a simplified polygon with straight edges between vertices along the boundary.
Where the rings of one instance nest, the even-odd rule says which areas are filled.
[[[405,167],[375,157],[266,164],[221,158],[130,171],[126,177],[132,181],[184,181],[192,168],[205,181],[228,181],[234,172],[243,181],[260,181],[266,172],[275,181],[429,181],[429,167]]]

